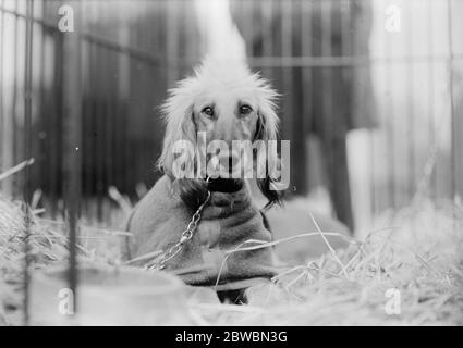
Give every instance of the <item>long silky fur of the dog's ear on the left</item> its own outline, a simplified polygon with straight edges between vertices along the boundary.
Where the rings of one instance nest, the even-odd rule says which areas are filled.
[[[158,160],[158,169],[171,178],[173,189],[192,209],[196,209],[206,199],[207,185],[203,179],[174,177],[172,166],[175,156],[172,150],[178,140],[192,141],[196,147],[196,126],[193,114],[195,89],[196,78],[190,77],[181,80],[169,91],[169,98],[162,105],[166,135],[162,153]],[[195,154],[187,159],[188,165],[196,171],[195,161]]]

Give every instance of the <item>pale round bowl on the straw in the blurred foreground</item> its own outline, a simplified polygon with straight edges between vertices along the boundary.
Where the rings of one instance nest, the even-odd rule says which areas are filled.
[[[76,308],[68,268],[37,272],[32,325],[190,325],[185,286],[174,275],[124,266],[78,269]]]

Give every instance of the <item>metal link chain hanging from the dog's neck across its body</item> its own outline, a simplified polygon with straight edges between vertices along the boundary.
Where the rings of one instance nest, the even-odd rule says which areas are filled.
[[[206,181],[209,183],[209,178]],[[180,240],[174,244],[172,247],[170,247],[166,252],[157,257],[155,260],[153,260],[150,263],[146,265],[146,269],[149,271],[160,271],[165,269],[166,263],[172,259],[174,256],[176,256],[182,249],[183,246],[193,238],[193,235],[195,231],[198,227],[199,221],[202,219],[202,213],[206,204],[209,202],[210,199],[210,191],[207,190],[207,197],[204,200],[204,202],[199,206],[199,208],[196,210],[196,212],[193,214],[192,220],[190,221],[188,225],[186,226],[185,231],[182,232],[182,236],[180,237]]]

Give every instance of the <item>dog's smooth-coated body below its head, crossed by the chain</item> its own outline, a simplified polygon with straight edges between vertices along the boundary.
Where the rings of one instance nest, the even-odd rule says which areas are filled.
[[[180,239],[193,213],[175,194],[171,179],[162,176],[131,219],[129,231],[135,234],[130,246],[132,257],[167,250]],[[243,279],[275,275],[269,248],[236,251],[227,257],[227,251],[240,248],[246,240],[271,240],[247,187],[235,192],[212,191],[193,238],[167,263],[166,270],[174,271],[191,285],[227,283],[227,289],[242,287],[237,284],[243,284]],[[253,245],[256,244],[243,247]]]

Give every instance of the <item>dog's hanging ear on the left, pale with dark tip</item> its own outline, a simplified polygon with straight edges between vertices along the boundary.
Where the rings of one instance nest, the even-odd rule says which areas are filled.
[[[162,105],[166,135],[158,169],[168,175],[186,206],[199,206],[207,195],[206,184],[196,178],[195,79],[186,78],[170,90]],[[181,175],[179,175],[181,174]]]

